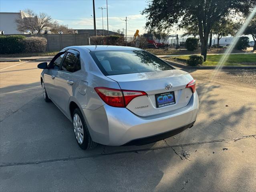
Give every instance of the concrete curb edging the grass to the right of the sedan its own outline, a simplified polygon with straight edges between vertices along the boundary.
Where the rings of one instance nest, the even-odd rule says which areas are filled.
[[[163,59],[165,60],[165,59]],[[171,64],[172,66],[175,67],[179,67],[179,68],[187,68],[187,69],[205,69],[205,70],[210,70],[210,69],[215,69],[218,66],[187,66],[181,63],[177,63],[174,61],[169,61],[169,60],[165,60],[166,62],[168,62],[169,64]],[[256,66],[222,66],[222,69],[256,69]]]

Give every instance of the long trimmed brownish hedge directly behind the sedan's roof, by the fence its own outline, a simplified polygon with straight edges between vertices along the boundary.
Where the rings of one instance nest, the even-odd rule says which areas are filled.
[[[91,36],[90,37],[91,45],[119,45],[122,46],[125,44],[123,36],[119,35],[109,35],[109,36]]]

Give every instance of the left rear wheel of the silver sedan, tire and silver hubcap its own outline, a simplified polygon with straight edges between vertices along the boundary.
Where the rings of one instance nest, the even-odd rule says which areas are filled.
[[[73,129],[77,144],[83,150],[90,150],[97,146],[90,136],[89,130],[81,111],[76,108],[73,112]]]

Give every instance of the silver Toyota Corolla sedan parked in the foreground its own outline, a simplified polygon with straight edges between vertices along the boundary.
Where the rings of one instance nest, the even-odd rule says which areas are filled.
[[[196,121],[195,80],[145,50],[71,46],[38,68],[44,100],[73,122],[82,149],[155,142]]]

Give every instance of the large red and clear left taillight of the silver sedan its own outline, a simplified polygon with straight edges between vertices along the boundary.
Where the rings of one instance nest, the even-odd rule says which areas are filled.
[[[112,89],[107,87],[94,88],[100,98],[113,107],[125,107],[135,97],[147,95],[143,91]]]

